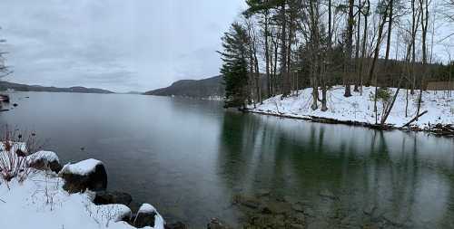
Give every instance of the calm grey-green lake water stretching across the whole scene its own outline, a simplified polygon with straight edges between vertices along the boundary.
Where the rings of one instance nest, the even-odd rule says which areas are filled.
[[[207,100],[11,97],[18,107],[0,124],[35,131],[64,163],[102,160],[108,189],[191,228],[212,217],[238,226],[247,211],[232,199],[259,194],[300,203],[310,228],[454,228],[452,138],[242,114]]]

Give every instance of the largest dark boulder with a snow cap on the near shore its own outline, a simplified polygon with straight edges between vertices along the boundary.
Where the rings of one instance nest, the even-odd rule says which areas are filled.
[[[104,191],[107,188],[107,173],[103,162],[86,159],[75,164],[65,165],[58,173],[64,178],[64,190],[69,193]]]

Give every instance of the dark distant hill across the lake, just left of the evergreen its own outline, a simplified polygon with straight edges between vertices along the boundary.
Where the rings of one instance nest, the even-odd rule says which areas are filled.
[[[159,96],[183,96],[198,99],[222,98],[225,90],[222,81],[222,75],[198,81],[175,81],[167,88],[147,91],[144,94]]]

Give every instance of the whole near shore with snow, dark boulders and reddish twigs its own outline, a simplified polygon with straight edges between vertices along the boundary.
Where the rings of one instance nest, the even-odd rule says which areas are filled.
[[[107,188],[102,161],[88,158],[62,166],[56,153],[42,150],[35,133],[5,129],[0,138],[0,211],[8,220],[0,221],[0,228],[188,228],[179,221],[167,223],[148,203],[133,212],[130,194]],[[207,223],[208,229],[231,228],[216,218]]]

